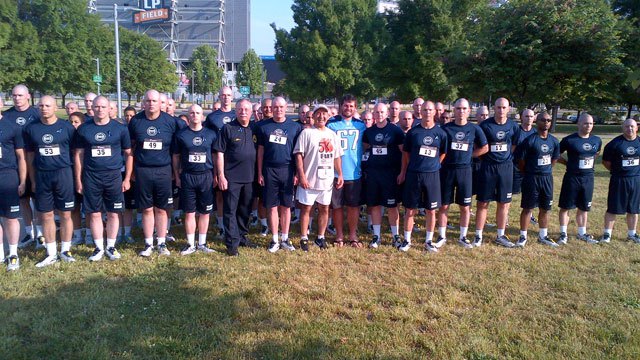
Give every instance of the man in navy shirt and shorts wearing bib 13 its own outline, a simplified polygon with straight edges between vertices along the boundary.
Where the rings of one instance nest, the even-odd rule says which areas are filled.
[[[404,217],[404,241],[398,248],[409,251],[413,217],[418,208],[424,208],[426,215],[425,249],[437,252],[432,243],[436,226],[436,211],[441,204],[440,163],[447,153],[447,134],[436,126],[435,104],[426,101],[422,104],[422,119],[407,133],[402,147],[402,170],[398,182],[404,182],[402,203],[406,208]]]

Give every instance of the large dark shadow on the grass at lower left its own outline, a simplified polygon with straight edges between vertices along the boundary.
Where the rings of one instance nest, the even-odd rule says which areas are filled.
[[[11,358],[321,358],[335,351],[309,334],[304,341],[269,336],[302,333],[303,325],[280,319],[259,291],[206,283],[208,271],[168,262],[130,276],[101,272],[52,284],[35,289],[36,296],[5,292],[4,355],[15,349]]]

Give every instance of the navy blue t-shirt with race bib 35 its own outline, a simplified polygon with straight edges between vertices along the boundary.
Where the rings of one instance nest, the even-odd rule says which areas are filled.
[[[131,149],[131,138],[127,127],[116,120],[105,125],[89,121],[78,127],[74,148],[84,149],[82,166],[86,170],[118,170],[124,165],[122,150]]]

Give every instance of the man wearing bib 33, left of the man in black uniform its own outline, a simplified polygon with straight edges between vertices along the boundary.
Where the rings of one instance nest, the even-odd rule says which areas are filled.
[[[209,214],[215,210],[213,146],[218,134],[202,126],[204,114],[198,105],[189,107],[189,126],[178,131],[174,141],[173,174],[180,189],[180,209],[185,213],[184,228],[187,247],[180,254],[196,251],[214,252],[207,246]],[[198,245],[196,246],[196,212],[198,213]]]

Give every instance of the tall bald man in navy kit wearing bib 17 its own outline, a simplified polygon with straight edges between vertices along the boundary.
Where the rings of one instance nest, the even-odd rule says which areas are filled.
[[[499,98],[493,107],[495,115],[480,124],[489,143],[489,152],[482,157],[478,188],[478,211],[474,246],[482,245],[482,231],[487,220],[489,203],[496,201],[496,244],[511,248],[514,244],[505,235],[509,205],[513,191],[513,150],[518,126],[509,120],[509,100]]]

